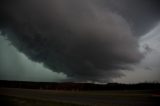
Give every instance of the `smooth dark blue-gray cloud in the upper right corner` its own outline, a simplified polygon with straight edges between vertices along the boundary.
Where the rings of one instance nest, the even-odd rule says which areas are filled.
[[[126,18],[135,36],[145,35],[160,19],[159,0],[95,0]],[[103,4],[102,4],[103,2]]]

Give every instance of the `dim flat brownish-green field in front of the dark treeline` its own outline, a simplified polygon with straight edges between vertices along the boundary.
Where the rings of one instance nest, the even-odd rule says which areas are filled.
[[[151,91],[56,91],[0,88],[0,101],[15,106],[159,106]],[[5,100],[4,100],[5,99]]]

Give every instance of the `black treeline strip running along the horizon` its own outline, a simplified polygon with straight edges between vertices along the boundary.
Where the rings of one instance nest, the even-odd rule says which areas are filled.
[[[0,87],[48,89],[48,90],[160,90],[160,83],[138,84],[93,84],[93,83],[57,83],[57,82],[26,82],[26,81],[0,81]]]

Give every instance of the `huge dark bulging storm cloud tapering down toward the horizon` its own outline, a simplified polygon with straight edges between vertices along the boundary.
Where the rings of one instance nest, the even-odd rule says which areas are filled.
[[[142,59],[138,36],[146,29],[136,29],[144,26],[137,23],[141,16],[151,19],[145,18],[148,13],[141,15],[148,5],[138,18],[130,13],[135,7],[128,10],[123,1],[102,6],[103,0],[2,0],[0,24],[20,52],[69,80],[110,81]]]

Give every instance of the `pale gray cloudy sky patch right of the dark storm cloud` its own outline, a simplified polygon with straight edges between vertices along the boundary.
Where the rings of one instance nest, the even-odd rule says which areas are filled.
[[[140,39],[140,50],[145,58],[137,65],[134,71],[123,71],[125,77],[114,79],[115,82],[139,83],[160,82],[160,24]]]

